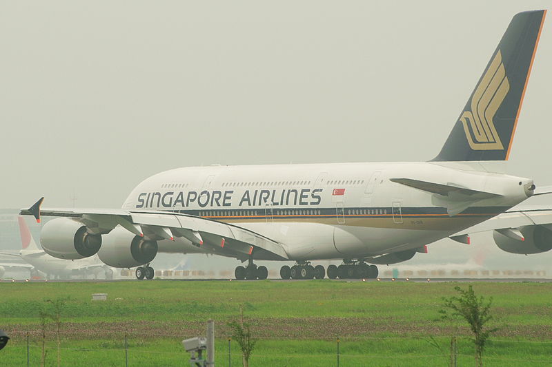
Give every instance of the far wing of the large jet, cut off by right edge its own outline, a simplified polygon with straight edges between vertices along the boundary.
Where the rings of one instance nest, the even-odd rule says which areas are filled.
[[[515,229],[531,225],[550,225],[552,227],[552,208],[520,209],[506,211],[464,231],[451,235],[451,238],[471,233],[493,231],[497,229]],[[551,228],[552,229],[552,228]]]

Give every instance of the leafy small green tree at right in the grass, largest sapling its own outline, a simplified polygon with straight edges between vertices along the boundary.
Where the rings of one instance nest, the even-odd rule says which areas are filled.
[[[484,297],[477,297],[472,286],[468,286],[468,290],[461,289],[460,286],[454,287],[455,291],[460,293],[460,297],[443,297],[444,308],[439,312],[443,319],[453,319],[462,317],[470,325],[473,333],[473,344],[475,344],[475,364],[483,366],[483,351],[487,339],[498,328],[485,328],[487,322],[493,317],[490,314],[493,297],[489,298],[489,302],[485,302]]]

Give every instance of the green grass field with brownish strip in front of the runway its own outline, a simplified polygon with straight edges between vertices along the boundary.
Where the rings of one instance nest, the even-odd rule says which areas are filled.
[[[40,362],[39,311],[46,299],[68,297],[62,313],[63,366],[188,366],[180,341],[205,334],[215,319],[217,366],[228,366],[226,324],[242,306],[259,338],[251,366],[446,366],[450,336],[459,337],[458,366],[471,366],[469,330],[439,319],[454,283],[341,282],[76,282],[0,283],[0,328],[12,337],[1,366]],[[462,284],[460,284],[462,285]],[[493,297],[494,326],[486,366],[552,366],[552,284],[475,283]],[[108,301],[92,302],[92,293]],[[57,365],[48,324],[47,365]],[[233,342],[232,365],[240,366]]]

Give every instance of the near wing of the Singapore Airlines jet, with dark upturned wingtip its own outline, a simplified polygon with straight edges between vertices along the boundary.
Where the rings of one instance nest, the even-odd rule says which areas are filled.
[[[70,217],[86,225],[92,233],[105,234],[121,225],[151,240],[183,237],[206,253],[246,259],[255,251],[262,260],[288,260],[279,242],[233,224],[170,211],[126,211],[124,209],[40,209],[43,198],[21,215]]]

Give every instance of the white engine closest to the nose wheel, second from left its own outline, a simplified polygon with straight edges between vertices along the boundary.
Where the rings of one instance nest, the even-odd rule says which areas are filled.
[[[152,261],[157,255],[157,242],[130,233],[121,226],[103,235],[98,252],[102,262],[114,268],[132,268]]]

